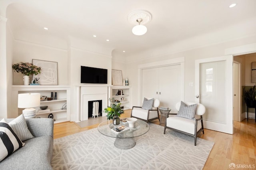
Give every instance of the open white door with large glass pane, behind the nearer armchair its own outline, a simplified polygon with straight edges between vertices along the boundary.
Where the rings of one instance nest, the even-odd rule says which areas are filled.
[[[195,61],[196,102],[206,107],[204,128],[233,134],[233,56]]]

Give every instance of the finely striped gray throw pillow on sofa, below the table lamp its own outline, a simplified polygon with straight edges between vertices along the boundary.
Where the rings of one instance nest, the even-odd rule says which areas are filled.
[[[24,141],[30,138],[34,138],[34,136],[28,130],[26,119],[23,114],[12,120],[10,123],[8,123],[8,125],[10,125],[10,127],[18,135],[20,140]]]

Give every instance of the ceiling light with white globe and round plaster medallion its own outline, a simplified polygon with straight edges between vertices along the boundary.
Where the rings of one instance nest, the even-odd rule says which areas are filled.
[[[147,32],[147,28],[144,24],[150,22],[151,18],[152,16],[150,12],[146,10],[132,11],[127,18],[131,24],[136,25],[132,28],[132,33],[136,36],[145,34]]]

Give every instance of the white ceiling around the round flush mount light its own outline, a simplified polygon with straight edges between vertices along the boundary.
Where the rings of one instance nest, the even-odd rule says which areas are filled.
[[[1,1],[2,2],[2,1]],[[7,8],[13,32],[82,38],[116,51],[135,53],[252,20],[256,0],[12,0]],[[234,8],[229,8],[237,3]],[[127,16],[147,10],[152,20],[143,36],[132,34]],[[47,27],[49,30],[44,30]],[[15,34],[14,34],[15,35]],[[97,37],[94,38],[93,35]],[[106,42],[109,39],[110,42]]]

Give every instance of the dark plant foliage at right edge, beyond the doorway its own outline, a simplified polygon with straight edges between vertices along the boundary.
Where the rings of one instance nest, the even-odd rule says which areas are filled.
[[[256,108],[256,84],[250,89],[245,89],[244,87],[244,99],[247,107]]]

